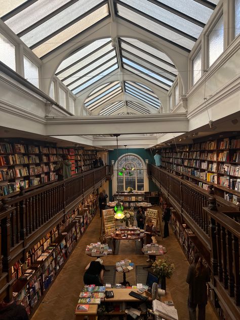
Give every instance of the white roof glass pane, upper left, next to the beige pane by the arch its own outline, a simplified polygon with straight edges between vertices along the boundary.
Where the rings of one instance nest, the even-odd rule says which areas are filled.
[[[79,6],[79,1],[77,1],[73,5],[67,7],[65,10],[59,12],[52,18],[24,34],[21,39],[28,47],[31,47],[39,41],[42,41],[45,37],[51,35],[53,32],[58,31],[60,28],[66,26],[74,19],[82,16],[91,8],[98,5],[98,3],[98,0],[89,0],[88,2],[82,1],[81,6]],[[34,12],[32,12],[32,14],[34,14]]]

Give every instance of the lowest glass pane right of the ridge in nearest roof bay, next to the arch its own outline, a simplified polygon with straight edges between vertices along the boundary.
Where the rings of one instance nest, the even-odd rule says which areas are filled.
[[[135,13],[134,11],[125,8],[121,5],[117,4],[117,12],[120,17],[123,17],[130,22],[136,23],[140,27],[144,26],[144,29],[155,33],[156,35],[159,35],[161,37],[164,37],[167,41],[171,41],[172,43],[175,43],[183,48],[186,48],[187,50],[191,50],[193,45],[195,44],[195,41],[192,41],[183,35],[174,32],[162,25],[159,25],[158,23],[143,17],[142,15]]]

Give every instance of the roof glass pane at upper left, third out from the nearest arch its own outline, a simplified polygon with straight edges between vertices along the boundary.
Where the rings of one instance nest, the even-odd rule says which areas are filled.
[[[67,4],[69,1],[70,0],[38,0],[13,17],[10,17],[5,23],[13,30],[13,32],[18,34]]]

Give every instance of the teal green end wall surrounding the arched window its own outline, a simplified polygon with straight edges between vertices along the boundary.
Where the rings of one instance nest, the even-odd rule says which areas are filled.
[[[114,162],[116,162],[116,158],[117,158],[117,150],[114,149],[112,151],[108,151],[108,164],[111,165],[112,160],[114,160]],[[126,153],[135,153],[137,155],[139,155],[143,161],[145,162],[146,159],[148,159],[148,163],[149,164],[154,164],[154,158],[153,155],[154,153],[151,153],[151,151],[148,149],[143,149],[143,148],[132,148],[132,149],[118,149],[118,157],[120,157],[123,154]],[[158,191],[157,186],[152,182],[151,179],[148,179],[148,183],[149,183],[149,191]],[[112,197],[112,181],[109,182],[109,195],[110,195],[110,199]]]

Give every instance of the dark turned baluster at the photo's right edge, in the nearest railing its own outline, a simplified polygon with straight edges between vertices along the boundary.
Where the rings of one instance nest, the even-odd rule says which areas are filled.
[[[234,300],[240,305],[240,278],[239,278],[239,240],[233,235],[232,240],[233,274],[234,274]]]

